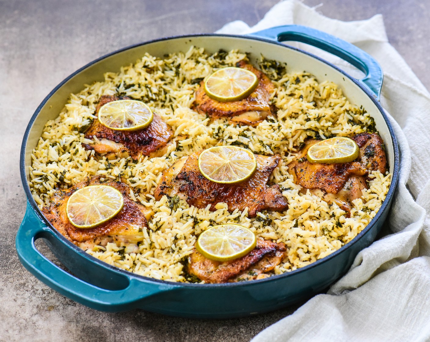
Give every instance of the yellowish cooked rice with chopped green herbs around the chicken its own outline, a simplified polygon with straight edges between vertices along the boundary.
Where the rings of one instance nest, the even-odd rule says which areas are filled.
[[[32,154],[30,187],[39,207],[48,205],[55,188],[68,188],[88,176],[103,175],[115,179],[122,176],[132,188],[132,200],[154,210],[154,217],[144,231],[140,253],[125,253],[122,246],[108,243],[87,253],[111,265],[148,277],[187,281],[183,261],[192,253],[198,235],[212,225],[239,223],[250,228],[257,237],[284,242],[288,257],[276,266],[281,274],[309,265],[328,256],[352,240],[378,212],[390,186],[390,174],[373,171],[369,189],[353,201],[351,217],[336,204],[329,205],[309,191],[302,194],[288,173],[287,164],[298,146],[309,136],[353,136],[372,127],[373,120],[342,95],[336,84],[319,83],[311,74],[288,73],[282,68],[261,67],[274,81],[273,104],[277,116],[269,116],[256,127],[228,124],[190,109],[194,91],[202,77],[216,68],[234,66],[246,59],[235,50],[213,55],[191,47],[186,53],[175,53],[165,59],[145,54],[135,65],[121,68],[119,73],[106,73],[104,82],[85,85],[71,94],[69,102],[55,120],[46,127]],[[267,68],[268,67],[268,68]],[[82,143],[91,143],[82,133],[92,119],[102,95],[126,95],[146,102],[175,132],[185,136],[173,144],[163,157],[118,158],[107,160]],[[80,132],[81,131],[81,132]],[[215,212],[197,209],[181,200],[176,210],[169,199],[156,201],[154,190],[162,171],[178,158],[214,145],[240,144],[259,154],[279,154],[282,164],[270,179],[278,183],[287,198],[284,212],[258,213],[250,219],[247,211],[228,212],[218,203]]]

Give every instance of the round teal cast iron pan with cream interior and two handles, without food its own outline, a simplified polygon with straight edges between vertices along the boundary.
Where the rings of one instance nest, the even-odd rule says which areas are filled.
[[[300,41],[341,57],[360,69],[365,77],[355,79],[334,65],[286,46],[281,41]],[[187,51],[191,45],[208,52],[239,49],[250,52],[251,62],[263,54],[288,64],[289,71],[304,71],[317,80],[341,86],[350,102],[362,105],[375,119],[384,139],[388,165],[393,174],[390,190],[372,222],[336,252],[289,273],[263,280],[224,284],[172,283],[143,277],[107,265],[69,242],[44,218],[31,196],[28,166],[46,121],[58,116],[70,93],[84,84],[103,80],[107,71],[116,72],[141,58],[145,52],[163,57]],[[384,225],[399,171],[399,149],[393,128],[379,103],[383,73],[370,55],[336,37],[298,25],[270,28],[248,36],[198,34],[153,40],[105,55],[71,74],[43,100],[28,124],[21,148],[21,177],[28,197],[27,212],[16,235],[16,250],[22,265],[35,277],[62,295],[102,311],[141,308],[168,315],[198,318],[240,317],[275,310],[308,299],[329,287],[350,268],[357,253],[369,246]],[[71,271],[50,262],[34,246],[42,238]]]

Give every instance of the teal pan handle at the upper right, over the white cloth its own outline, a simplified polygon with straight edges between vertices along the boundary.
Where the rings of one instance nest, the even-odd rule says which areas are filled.
[[[358,80],[359,83],[370,90],[376,99],[379,100],[382,80],[384,78],[382,68],[371,55],[351,43],[332,36],[331,34],[302,25],[276,26],[248,35],[276,40],[278,42],[289,40],[297,41],[330,52],[361,70],[366,76]]]

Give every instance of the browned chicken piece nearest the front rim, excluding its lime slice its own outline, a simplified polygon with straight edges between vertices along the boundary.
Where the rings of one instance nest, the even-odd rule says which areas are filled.
[[[262,279],[285,259],[286,254],[284,243],[269,240],[257,240],[257,246],[246,256],[227,262],[207,259],[194,250],[188,259],[187,272],[206,283]]]

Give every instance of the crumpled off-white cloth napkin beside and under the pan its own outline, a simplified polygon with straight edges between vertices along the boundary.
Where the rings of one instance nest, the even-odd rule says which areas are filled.
[[[299,24],[347,40],[384,70],[381,104],[401,151],[399,184],[385,236],[362,250],[327,294],[263,330],[252,342],[428,341],[430,339],[430,94],[388,43],[381,15],[341,22],[295,0],[276,4],[254,27],[236,21],[219,33],[247,34]],[[289,45],[310,50],[301,43]],[[346,62],[312,52],[355,75]],[[414,200],[414,198],[416,200]]]

